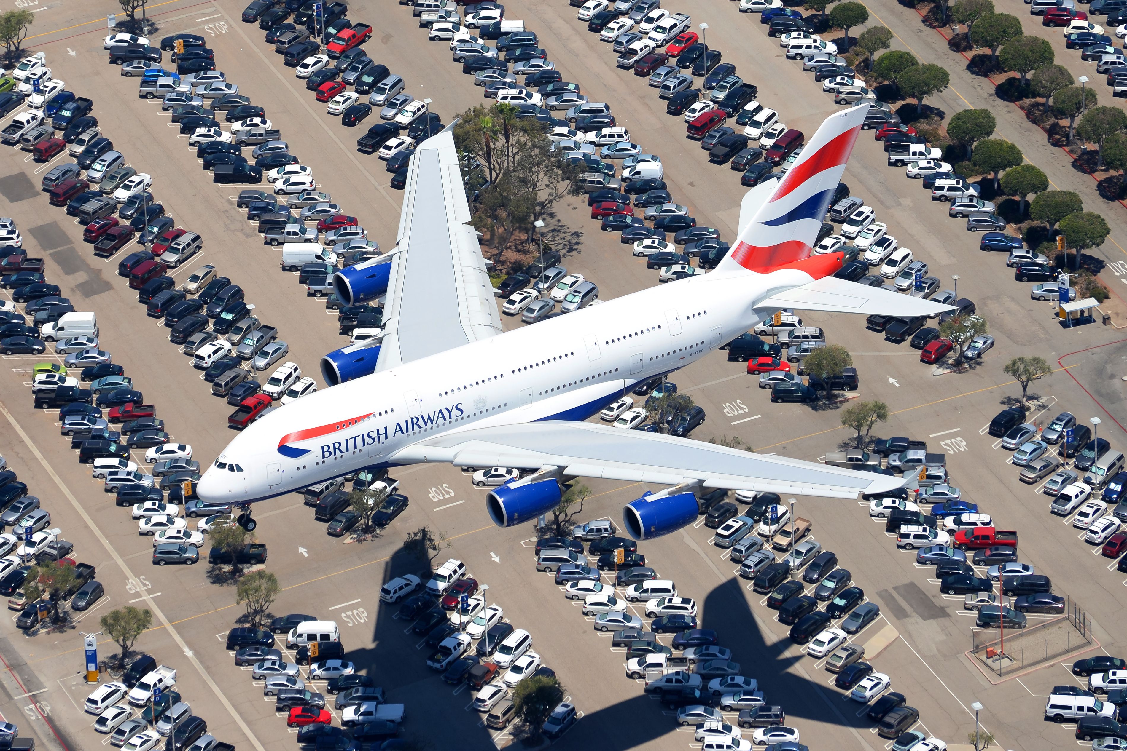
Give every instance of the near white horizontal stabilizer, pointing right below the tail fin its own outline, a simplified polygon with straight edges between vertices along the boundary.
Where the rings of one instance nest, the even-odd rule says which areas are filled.
[[[933,303],[922,297],[911,297],[898,292],[869,287],[836,277],[823,277],[801,287],[784,289],[767,297],[756,307],[772,310],[788,307],[797,311],[895,315],[897,318],[939,315],[955,310],[950,305]]]

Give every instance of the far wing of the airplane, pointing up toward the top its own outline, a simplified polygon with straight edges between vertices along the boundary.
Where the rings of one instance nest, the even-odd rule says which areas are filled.
[[[452,126],[423,142],[409,169],[376,370],[502,331]]]

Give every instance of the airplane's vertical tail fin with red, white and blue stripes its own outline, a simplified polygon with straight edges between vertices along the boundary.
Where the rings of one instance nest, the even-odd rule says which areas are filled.
[[[823,120],[798,161],[743,227],[736,247],[720,261],[718,270],[767,274],[780,268],[799,268],[820,278],[841,268],[841,253],[806,259],[810,258],[829,199],[868,111],[866,104]]]

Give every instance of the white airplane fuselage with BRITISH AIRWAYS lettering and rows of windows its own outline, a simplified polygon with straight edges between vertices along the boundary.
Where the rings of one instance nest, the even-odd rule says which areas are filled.
[[[756,311],[758,302],[808,281],[795,270],[713,271],[326,388],[251,423],[197,492],[260,501],[397,464],[398,452],[444,433],[585,420],[730,341],[773,312]]]

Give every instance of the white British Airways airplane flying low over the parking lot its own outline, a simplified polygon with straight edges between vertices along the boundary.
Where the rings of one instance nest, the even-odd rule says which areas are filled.
[[[706,357],[779,310],[937,315],[948,305],[836,279],[844,253],[811,254],[868,105],[827,117],[784,175],[740,204],[736,245],[709,274],[502,331],[477,233],[468,224],[451,128],[411,157],[398,244],[338,271],[347,304],[384,296],[375,346],[322,359],[335,384],[251,423],[197,493],[251,503],[365,467],[426,462],[532,471],[486,507],[509,527],[554,508],[576,477],[667,485],[623,509],[635,539],[696,519],[712,489],[858,499],[904,480],[584,422],[638,383]]]

